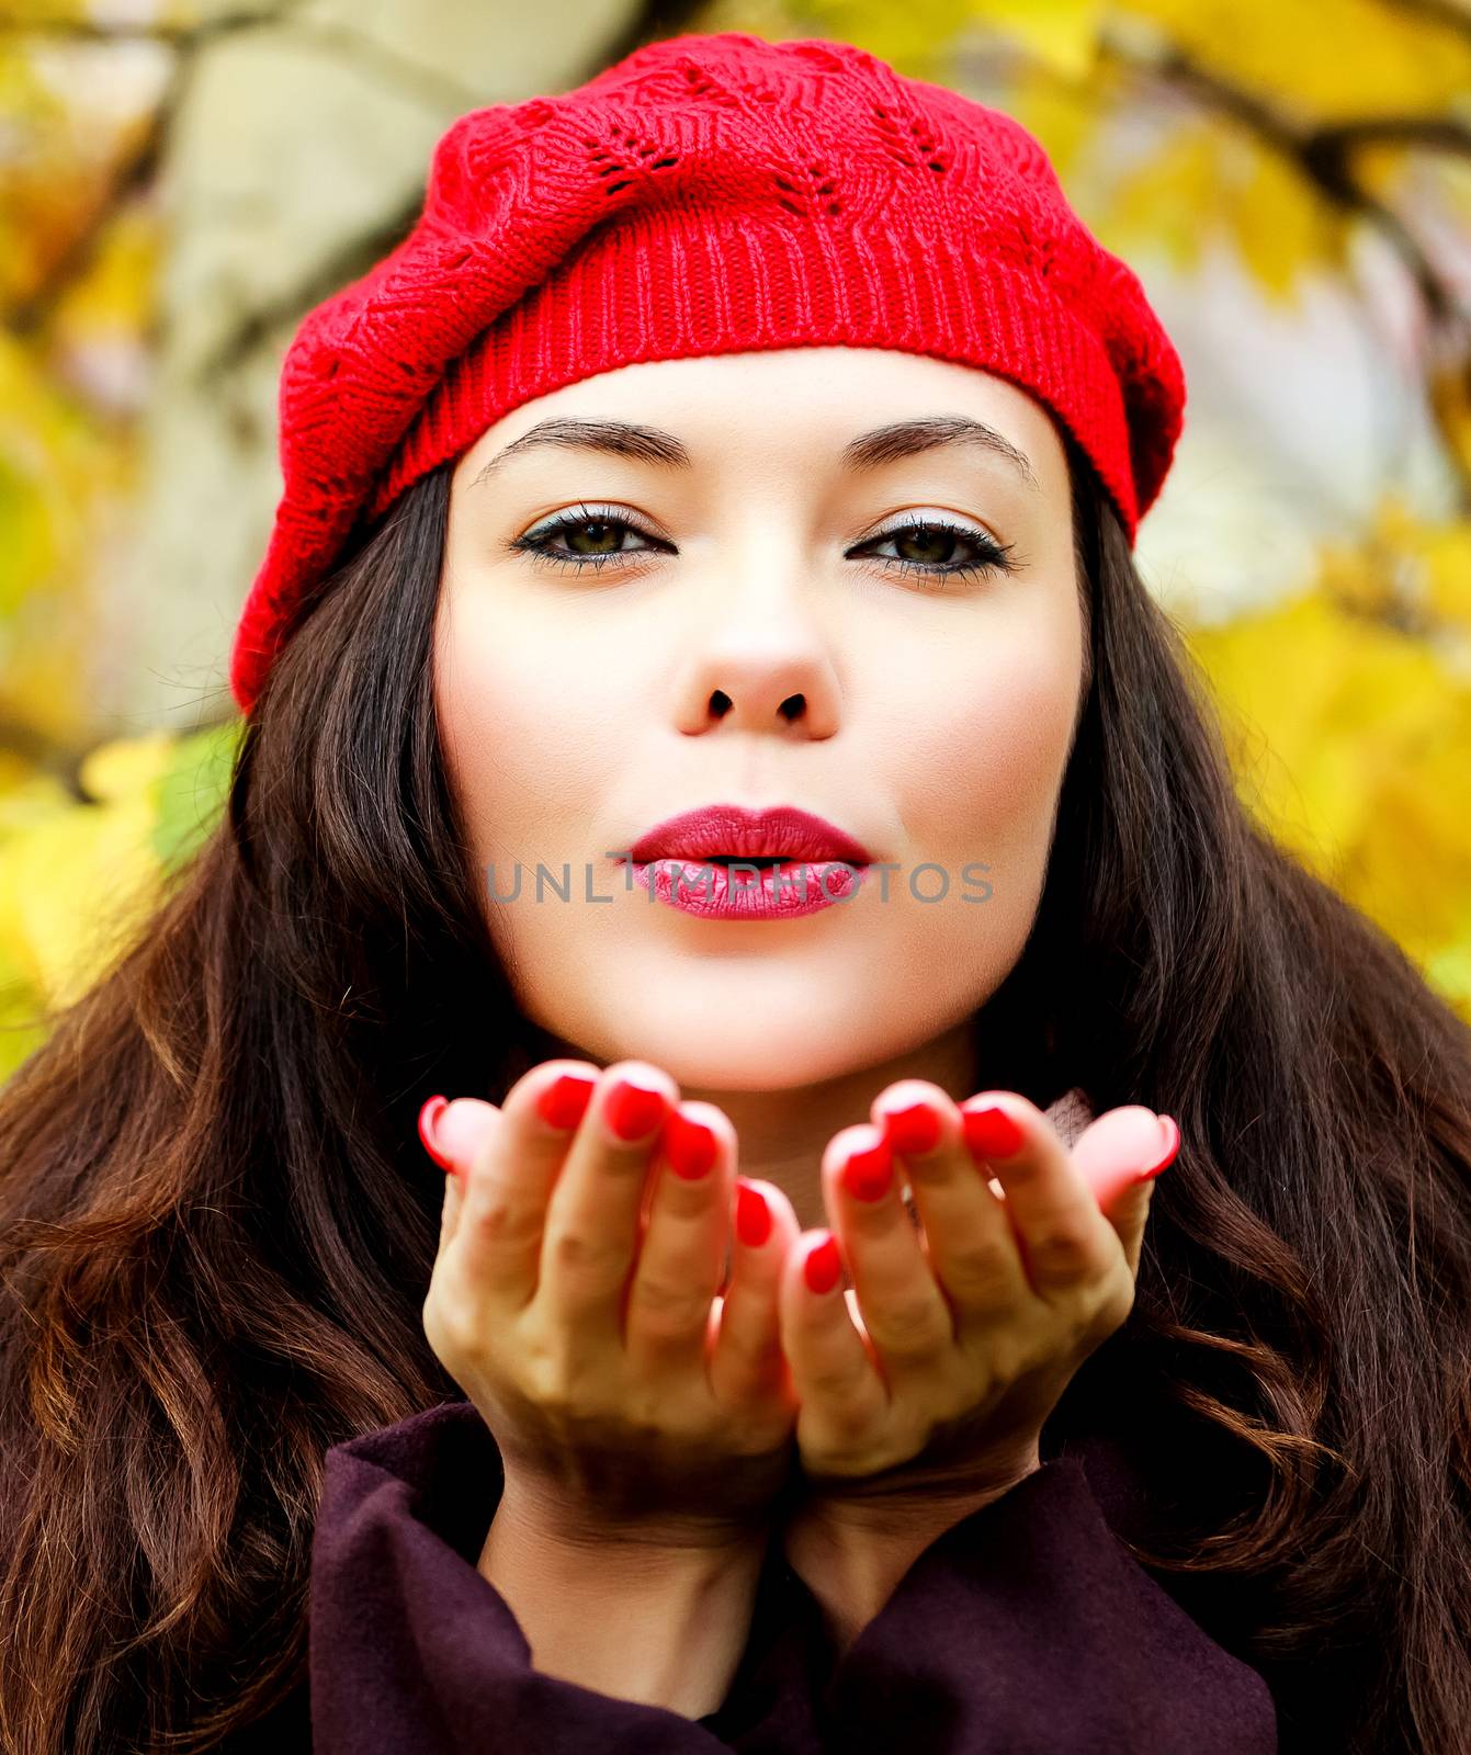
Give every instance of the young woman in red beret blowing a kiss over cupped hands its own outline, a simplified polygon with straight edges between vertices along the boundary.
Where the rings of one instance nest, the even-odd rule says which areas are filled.
[[[1471,1041],[1234,797],[1183,397],[850,46],[455,123],[0,1095],[7,1750],[1462,1746]]]

